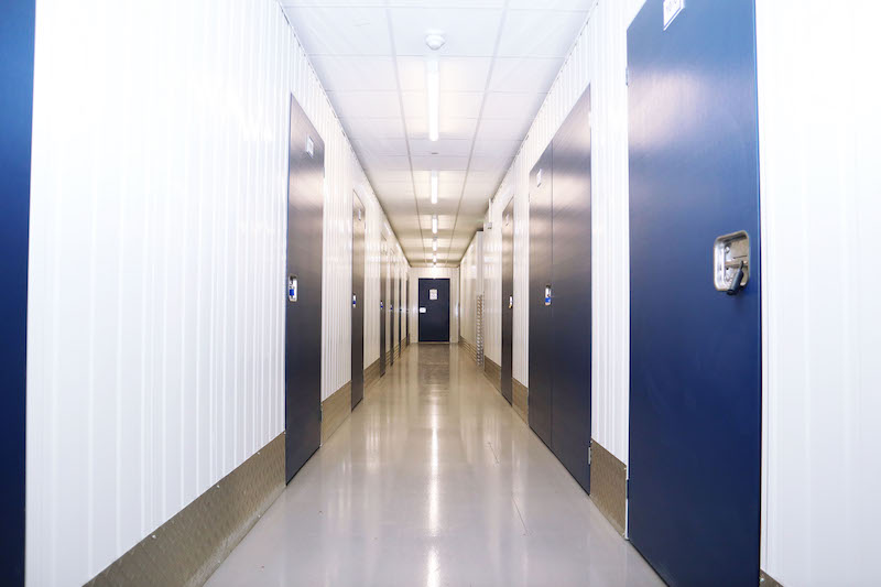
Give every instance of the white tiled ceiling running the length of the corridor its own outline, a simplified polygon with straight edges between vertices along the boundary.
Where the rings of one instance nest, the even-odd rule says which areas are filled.
[[[438,264],[458,264],[594,1],[281,0],[411,265],[431,261],[433,214]],[[436,142],[429,32],[446,39]]]

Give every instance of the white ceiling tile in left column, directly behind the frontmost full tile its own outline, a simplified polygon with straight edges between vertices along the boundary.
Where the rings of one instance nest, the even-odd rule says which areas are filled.
[[[326,91],[398,90],[391,57],[315,55],[311,61]]]

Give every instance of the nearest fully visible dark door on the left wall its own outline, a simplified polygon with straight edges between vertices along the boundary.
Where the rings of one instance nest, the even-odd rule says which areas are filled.
[[[289,149],[284,446],[290,481],[322,439],[324,240],[324,141],[293,96]]]

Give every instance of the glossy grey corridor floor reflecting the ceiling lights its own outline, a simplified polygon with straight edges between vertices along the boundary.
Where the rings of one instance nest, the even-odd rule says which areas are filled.
[[[663,585],[464,350],[413,345],[208,585]]]

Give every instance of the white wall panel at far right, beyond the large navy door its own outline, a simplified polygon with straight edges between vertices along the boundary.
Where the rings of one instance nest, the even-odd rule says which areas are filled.
[[[762,568],[787,586],[878,583],[880,21],[757,2]]]

